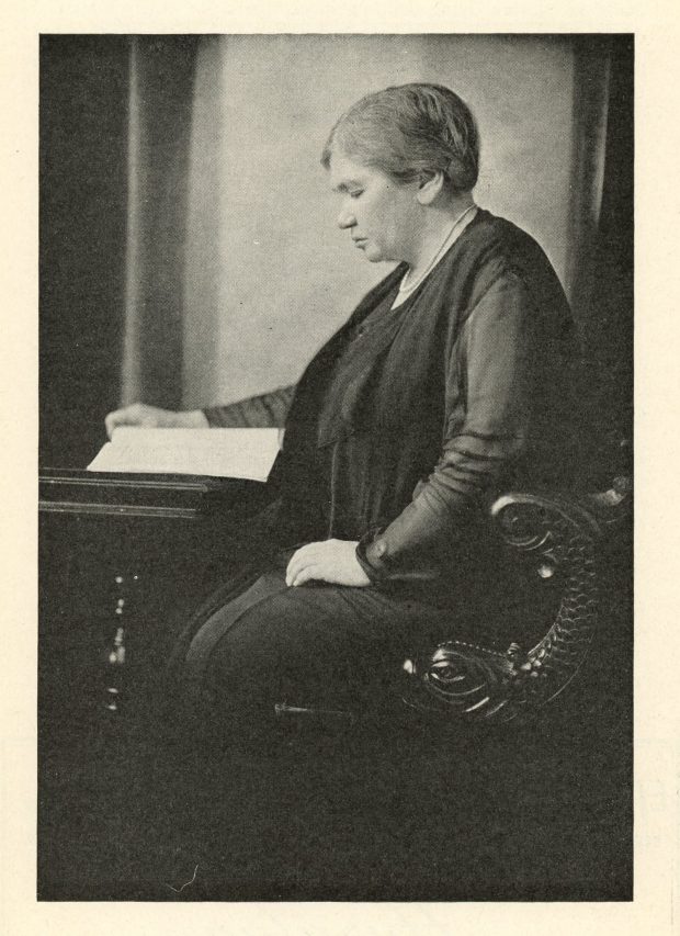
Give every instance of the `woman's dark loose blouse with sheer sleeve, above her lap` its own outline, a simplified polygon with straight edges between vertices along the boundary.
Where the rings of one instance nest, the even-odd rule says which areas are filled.
[[[291,535],[363,538],[376,580],[450,571],[488,500],[564,484],[576,444],[575,329],[539,245],[479,211],[392,309],[404,271],[306,370],[273,472]],[[206,415],[236,425],[230,409]]]

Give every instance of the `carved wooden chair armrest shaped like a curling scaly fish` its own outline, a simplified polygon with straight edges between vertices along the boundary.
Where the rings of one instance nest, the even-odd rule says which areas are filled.
[[[597,555],[610,529],[628,512],[632,484],[617,477],[590,495],[509,493],[490,508],[497,532],[529,554],[541,578],[559,571],[556,616],[530,650],[505,653],[450,640],[404,664],[404,701],[463,721],[509,721],[554,699],[579,670],[598,623]]]

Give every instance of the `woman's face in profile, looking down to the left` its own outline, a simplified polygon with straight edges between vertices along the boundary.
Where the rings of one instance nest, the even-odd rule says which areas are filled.
[[[406,260],[412,263],[422,229],[422,205],[418,202],[418,181],[394,179],[342,151],[330,158],[330,183],[341,198],[338,226],[349,230],[352,240],[372,263]]]

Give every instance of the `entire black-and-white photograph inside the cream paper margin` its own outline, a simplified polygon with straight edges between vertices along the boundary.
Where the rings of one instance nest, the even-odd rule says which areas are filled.
[[[38,902],[633,900],[635,42],[39,36]]]

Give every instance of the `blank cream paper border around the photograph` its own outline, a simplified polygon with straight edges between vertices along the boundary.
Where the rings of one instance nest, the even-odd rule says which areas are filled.
[[[247,12],[239,12],[243,8]],[[329,8],[332,12],[328,12]],[[338,8],[338,9],[333,9]],[[340,9],[341,8],[341,9]],[[680,52],[670,0],[484,4],[417,0],[89,0],[2,14],[2,666],[0,931],[11,936],[174,934],[662,934],[677,932],[680,571],[671,535],[679,462]],[[35,900],[38,34],[636,34],[636,771],[631,903],[37,903]],[[675,300],[675,302],[673,302]],[[455,847],[455,843],[452,845]],[[673,916],[675,913],[675,916]]]

